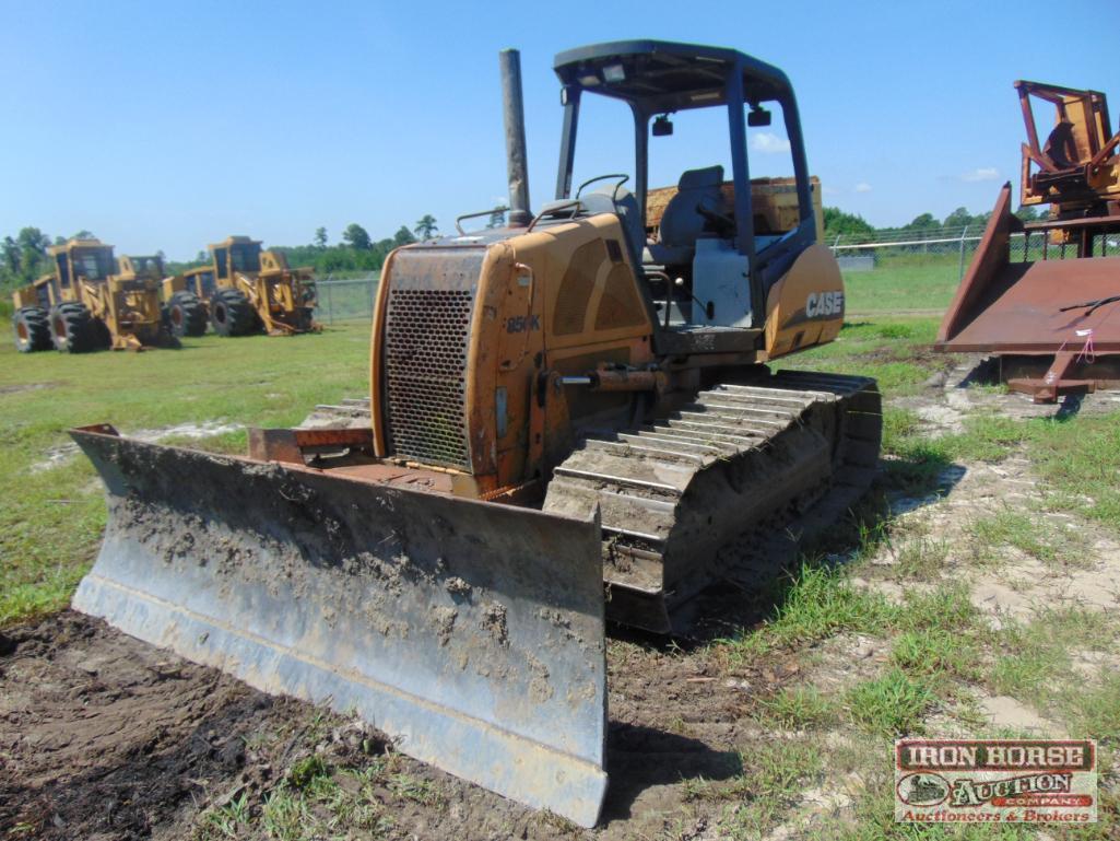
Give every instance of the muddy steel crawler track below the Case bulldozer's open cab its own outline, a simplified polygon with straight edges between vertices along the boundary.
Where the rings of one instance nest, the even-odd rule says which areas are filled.
[[[881,428],[868,378],[781,371],[721,383],[664,418],[586,437],[556,468],[544,510],[587,516],[597,505],[608,617],[674,631],[673,609],[719,577],[729,542],[750,560],[765,551],[759,530],[787,528],[838,486],[866,488]]]

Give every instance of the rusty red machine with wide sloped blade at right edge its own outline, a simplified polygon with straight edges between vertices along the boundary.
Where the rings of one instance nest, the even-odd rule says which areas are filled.
[[[1120,240],[1120,132],[1103,93],[1015,87],[1027,129],[1021,203],[1049,204],[1049,215],[1023,222],[1004,185],[935,346],[997,355],[1008,386],[1046,403],[1120,385],[1120,257],[1104,256]],[[1032,98],[1056,112],[1042,145]],[[1028,260],[1032,249],[1040,259]]]

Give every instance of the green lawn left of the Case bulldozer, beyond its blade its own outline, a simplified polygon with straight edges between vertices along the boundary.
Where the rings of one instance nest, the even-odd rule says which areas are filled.
[[[367,324],[293,338],[188,339],[178,351],[64,355],[0,349],[0,627],[57,610],[96,553],[100,481],[80,454],[39,470],[72,426],[122,433],[222,420],[290,425],[368,392]],[[243,452],[245,433],[192,442]]]

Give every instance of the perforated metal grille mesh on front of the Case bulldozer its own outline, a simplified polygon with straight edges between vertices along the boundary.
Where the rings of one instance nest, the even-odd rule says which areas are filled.
[[[473,303],[463,289],[390,289],[385,396],[398,456],[470,468],[464,404]]]

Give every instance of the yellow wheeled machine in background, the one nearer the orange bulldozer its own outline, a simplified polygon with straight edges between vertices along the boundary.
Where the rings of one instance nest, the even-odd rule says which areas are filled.
[[[164,281],[168,321],[177,336],[197,336],[207,323],[223,336],[318,332],[315,278],[291,269],[280,251],[249,237],[209,247],[211,262]]]

